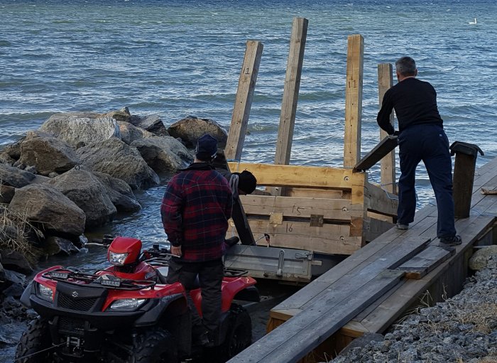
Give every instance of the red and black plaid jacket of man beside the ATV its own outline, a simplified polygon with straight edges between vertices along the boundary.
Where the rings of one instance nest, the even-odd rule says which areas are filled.
[[[181,246],[182,261],[222,257],[232,206],[226,178],[207,163],[193,163],[170,180],[160,215],[170,243]]]

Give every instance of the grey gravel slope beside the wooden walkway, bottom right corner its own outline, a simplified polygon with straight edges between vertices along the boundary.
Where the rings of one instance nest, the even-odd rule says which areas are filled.
[[[419,308],[371,339],[378,336],[348,347],[332,363],[497,362],[497,260],[467,278],[457,296]]]

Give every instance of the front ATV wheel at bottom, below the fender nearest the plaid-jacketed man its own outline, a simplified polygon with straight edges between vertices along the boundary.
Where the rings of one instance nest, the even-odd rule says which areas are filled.
[[[173,335],[158,327],[136,335],[129,363],[177,363],[178,351]]]

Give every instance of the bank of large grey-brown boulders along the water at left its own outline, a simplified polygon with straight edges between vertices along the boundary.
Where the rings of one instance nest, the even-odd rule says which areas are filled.
[[[19,298],[39,259],[77,254],[88,242],[84,232],[118,212],[140,210],[134,191],[191,163],[204,134],[226,145],[227,131],[211,119],[188,116],[166,127],[156,114],[141,117],[124,107],[54,114],[1,147],[1,351],[15,349],[35,316]],[[3,355],[0,362],[9,362]]]

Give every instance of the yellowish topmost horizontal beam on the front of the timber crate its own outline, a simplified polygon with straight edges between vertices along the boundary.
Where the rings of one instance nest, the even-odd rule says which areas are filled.
[[[348,189],[364,188],[365,173],[353,173],[351,169],[320,166],[293,166],[255,163],[229,163],[232,172],[249,170],[257,178],[258,185],[288,186],[300,188]]]

